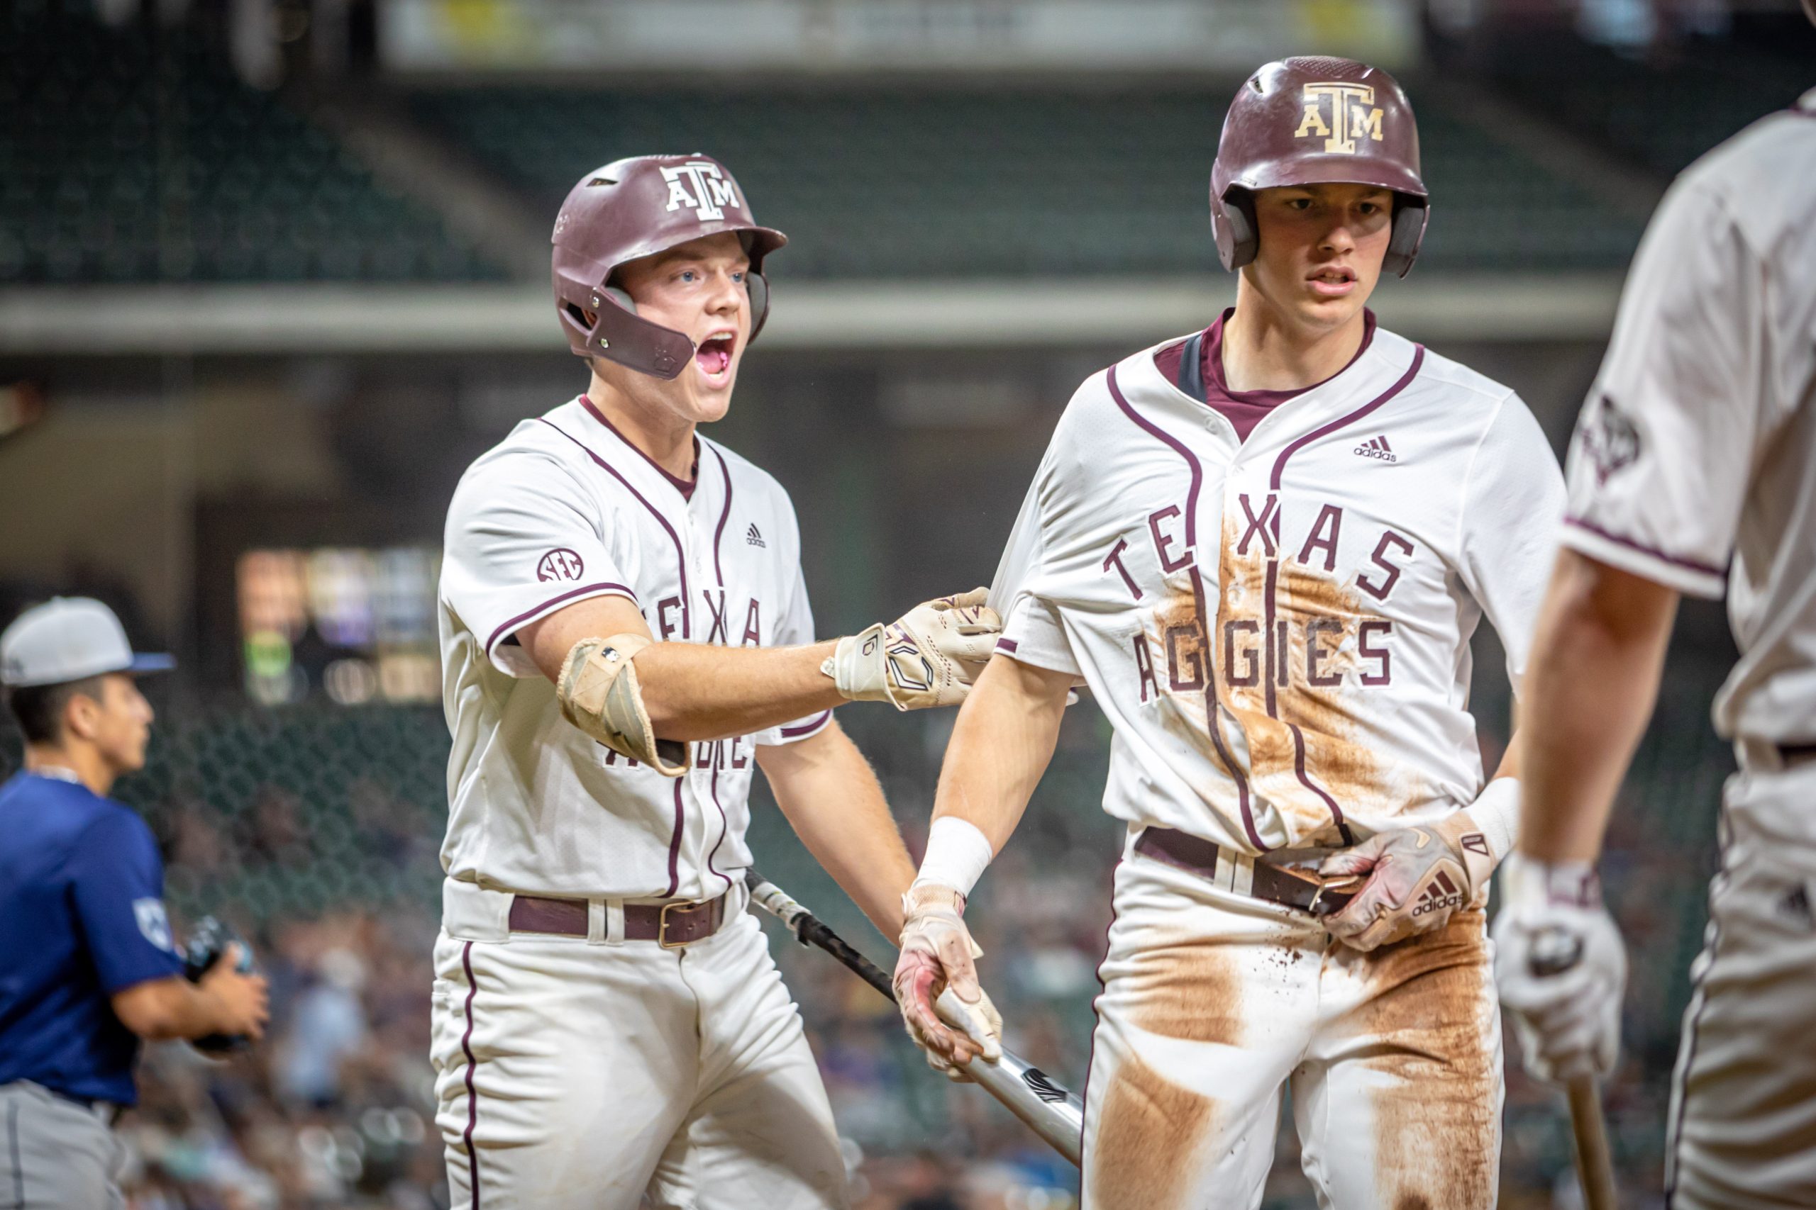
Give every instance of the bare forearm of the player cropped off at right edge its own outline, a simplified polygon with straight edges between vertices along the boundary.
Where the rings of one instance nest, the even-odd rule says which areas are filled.
[[[1676,617],[1669,588],[1565,550],[1525,675],[1520,851],[1593,862],[1651,718]]]

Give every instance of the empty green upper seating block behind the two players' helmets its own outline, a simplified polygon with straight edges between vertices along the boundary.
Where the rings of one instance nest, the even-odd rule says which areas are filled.
[[[550,214],[599,163],[710,152],[790,234],[783,276],[1197,274],[1217,259],[1206,183],[1233,87],[430,89],[412,111]],[[1429,268],[1613,268],[1633,252],[1638,221],[1493,131],[1431,105],[1420,136]]]

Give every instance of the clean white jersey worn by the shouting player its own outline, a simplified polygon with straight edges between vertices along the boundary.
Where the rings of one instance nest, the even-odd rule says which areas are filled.
[[[587,597],[637,604],[659,640],[814,640],[801,537],[768,473],[699,437],[692,499],[585,399],[523,421],[461,477],[441,564],[450,878],[503,891],[710,898],[750,864],[755,744],[830,711],[694,746],[666,778],[561,717],[518,628]]]

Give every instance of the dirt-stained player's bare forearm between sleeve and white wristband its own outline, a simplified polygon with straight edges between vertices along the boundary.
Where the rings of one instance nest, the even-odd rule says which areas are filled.
[[[1004,655],[990,660],[952,727],[933,818],[961,818],[1001,851],[1053,758],[1070,684]]]

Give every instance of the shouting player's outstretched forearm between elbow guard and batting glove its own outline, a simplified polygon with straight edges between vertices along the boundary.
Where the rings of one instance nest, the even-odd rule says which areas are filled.
[[[844,702],[821,671],[834,646],[652,644],[637,653],[650,726],[665,740],[723,740],[832,709]]]

